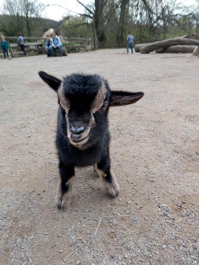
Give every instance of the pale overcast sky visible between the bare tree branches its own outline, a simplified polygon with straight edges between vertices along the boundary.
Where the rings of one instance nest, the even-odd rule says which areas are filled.
[[[64,6],[67,9],[75,11],[77,13],[84,12],[84,7],[78,4],[76,0],[65,0],[65,1],[64,0],[48,0],[48,1],[39,0],[39,1],[42,2],[44,5],[47,5],[47,3],[49,3],[49,5],[53,5],[56,3],[58,5]],[[178,0],[178,1],[188,6],[196,3],[196,0],[182,0],[182,1]],[[90,2],[94,2],[94,0],[82,0],[81,2],[84,4],[88,4]],[[3,3],[3,0],[0,0],[1,13],[3,12],[2,3]],[[46,18],[54,19],[54,20],[59,20],[62,18],[64,13],[67,14],[67,11],[64,10],[63,8],[57,7],[57,6],[50,6],[50,7],[46,7],[44,12],[42,13],[42,16]],[[71,12],[70,14],[72,15],[74,13]]]

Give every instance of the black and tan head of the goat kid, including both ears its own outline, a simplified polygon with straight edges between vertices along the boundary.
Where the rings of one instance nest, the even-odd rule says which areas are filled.
[[[144,93],[111,91],[106,80],[98,75],[71,74],[60,80],[45,72],[40,77],[57,92],[64,117],[66,137],[83,148],[98,140],[107,129],[107,113],[111,106],[132,104]]]

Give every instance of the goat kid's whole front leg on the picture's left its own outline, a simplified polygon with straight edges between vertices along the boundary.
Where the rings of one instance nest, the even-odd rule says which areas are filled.
[[[59,164],[60,182],[56,196],[56,204],[59,209],[67,209],[70,204],[72,182],[75,177],[75,168],[70,165]]]

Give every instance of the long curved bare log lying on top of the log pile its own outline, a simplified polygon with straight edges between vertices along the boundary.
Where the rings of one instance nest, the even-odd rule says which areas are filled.
[[[196,39],[172,38],[164,41],[156,41],[140,48],[141,53],[149,53],[160,48],[167,48],[174,45],[199,45]]]

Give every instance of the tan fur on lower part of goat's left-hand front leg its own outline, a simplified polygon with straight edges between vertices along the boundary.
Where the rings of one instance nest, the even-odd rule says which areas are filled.
[[[61,192],[61,181],[59,182],[58,190],[57,190],[57,195],[55,198],[57,207],[59,209],[68,209],[70,205],[70,196],[71,196],[71,191],[72,191],[72,182],[73,182],[74,176],[66,182],[66,185],[68,185],[68,191],[65,194],[62,194]]]

